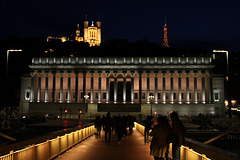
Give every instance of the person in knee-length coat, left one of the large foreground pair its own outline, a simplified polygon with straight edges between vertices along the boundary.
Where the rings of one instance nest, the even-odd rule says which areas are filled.
[[[168,145],[171,128],[166,124],[164,117],[157,118],[158,124],[154,126],[150,136],[153,136],[150,145],[150,155],[154,160],[164,160]]]

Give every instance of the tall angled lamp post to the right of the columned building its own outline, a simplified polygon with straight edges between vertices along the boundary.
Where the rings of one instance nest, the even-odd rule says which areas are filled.
[[[226,50],[213,50],[213,52],[220,52],[226,54],[226,60],[227,60],[227,94],[228,94],[228,115],[229,118],[232,118],[232,102],[231,102],[231,87],[230,87],[230,73],[229,73],[229,58],[228,58],[228,51]]]

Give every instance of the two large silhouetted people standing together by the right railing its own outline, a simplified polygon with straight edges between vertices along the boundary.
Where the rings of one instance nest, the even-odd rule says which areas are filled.
[[[168,150],[169,144],[172,143],[172,158],[173,160],[180,159],[180,147],[184,141],[186,128],[178,117],[177,112],[171,112],[172,127],[169,125],[166,116],[157,118],[158,124],[154,126],[150,132],[152,136],[150,145],[150,155],[154,156],[154,160],[169,159]]]

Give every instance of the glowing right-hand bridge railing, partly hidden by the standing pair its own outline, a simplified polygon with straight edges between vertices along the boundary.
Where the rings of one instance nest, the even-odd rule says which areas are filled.
[[[135,122],[135,128],[144,135],[145,127],[142,124]],[[169,156],[172,158],[172,144],[169,145]],[[210,159],[224,159],[224,160],[239,160],[240,157],[223,149],[204,144],[198,141],[185,138],[185,145],[181,146],[180,150],[181,160],[210,160]]]

